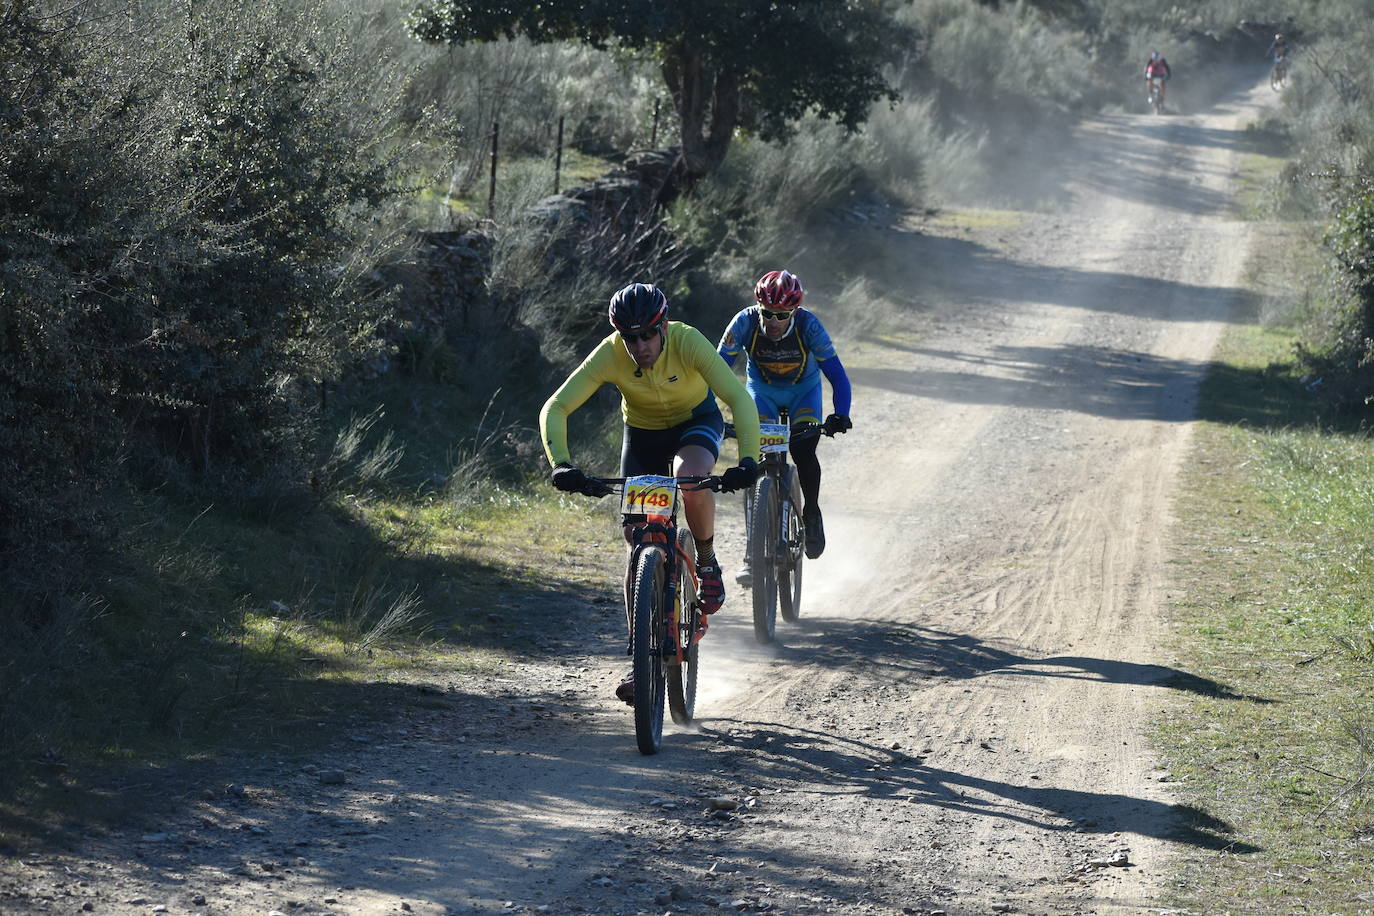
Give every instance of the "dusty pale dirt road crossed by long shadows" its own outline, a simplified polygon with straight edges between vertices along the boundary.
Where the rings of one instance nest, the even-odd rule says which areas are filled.
[[[736,595],[699,728],[662,754],[609,700],[614,639],[588,639],[157,829],[11,862],[0,909],[1158,909],[1171,854],[1224,829],[1175,809],[1145,729],[1194,688],[1161,648],[1169,499],[1245,295],[1228,185],[1267,95],[1084,125],[1052,214],[866,231],[874,283],[923,308],[894,294],[896,327],[845,350],[856,427],[822,445],[804,619],[758,648]]]

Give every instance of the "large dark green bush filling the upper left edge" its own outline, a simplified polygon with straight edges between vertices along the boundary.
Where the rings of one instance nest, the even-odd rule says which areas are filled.
[[[258,518],[286,505],[319,385],[382,346],[372,271],[415,172],[400,76],[319,7],[190,10],[0,12],[7,751],[56,728],[22,705],[99,650],[84,621],[128,610],[95,578],[128,548],[124,488],[195,479],[216,501],[229,481]]]

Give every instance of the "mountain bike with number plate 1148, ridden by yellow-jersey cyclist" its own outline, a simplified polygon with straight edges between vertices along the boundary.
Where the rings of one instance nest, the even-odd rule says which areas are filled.
[[[631,529],[625,569],[625,614],[633,659],[635,740],[657,754],[664,739],[664,700],[673,721],[691,722],[697,706],[699,641],[705,633],[697,599],[697,547],[677,526],[679,490],[720,489],[719,477],[588,478],[621,493],[622,523]]]

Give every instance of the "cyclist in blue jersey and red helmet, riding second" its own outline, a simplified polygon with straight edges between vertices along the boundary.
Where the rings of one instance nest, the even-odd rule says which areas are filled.
[[[731,319],[716,352],[730,365],[741,353],[745,354],[745,387],[758,405],[758,419],[765,423],[776,423],[780,408],[787,409],[791,423],[822,423],[820,376],[824,375],[834,402],[824,428],[834,435],[853,426],[849,422],[849,376],[820,319],[801,308],[805,294],[801,280],[787,271],[763,275],[754,284],[757,305],[742,309]],[[789,449],[801,483],[801,518],[807,527],[807,556],[811,559],[826,549],[816,444],[818,437],[808,437],[794,439]],[[747,563],[735,580],[749,584]]]

